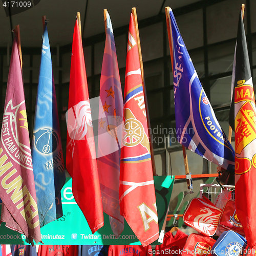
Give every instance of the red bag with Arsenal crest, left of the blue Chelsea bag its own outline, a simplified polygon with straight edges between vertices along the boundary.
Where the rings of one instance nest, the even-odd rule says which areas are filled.
[[[212,238],[192,233],[184,245],[182,256],[211,256],[211,247],[215,242]]]

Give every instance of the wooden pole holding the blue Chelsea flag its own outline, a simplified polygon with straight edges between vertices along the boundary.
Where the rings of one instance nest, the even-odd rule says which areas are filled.
[[[170,49],[170,59],[172,62],[172,69],[174,72],[174,55],[173,55],[173,36],[172,32],[170,30],[170,18],[169,18],[169,7],[165,7],[165,17],[166,17],[166,25],[167,25],[167,33],[168,33],[168,39],[169,39],[169,49]],[[182,145],[182,151],[183,151],[183,159],[184,159],[184,166],[185,166],[185,174],[189,175],[189,168],[188,168],[188,161],[187,161],[187,153],[186,153],[186,147]],[[190,180],[187,179],[187,187],[190,189],[190,192],[192,191],[190,188]]]

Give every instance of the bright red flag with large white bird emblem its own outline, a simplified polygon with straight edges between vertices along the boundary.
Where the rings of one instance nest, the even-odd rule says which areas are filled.
[[[73,35],[67,125],[66,166],[73,179],[72,191],[94,233],[104,225],[104,220],[86,66],[77,20]]]

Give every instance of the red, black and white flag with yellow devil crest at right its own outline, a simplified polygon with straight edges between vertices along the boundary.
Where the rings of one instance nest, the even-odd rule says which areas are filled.
[[[236,210],[249,247],[256,246],[256,108],[246,36],[239,16],[234,69]],[[254,254],[254,253],[253,253]]]

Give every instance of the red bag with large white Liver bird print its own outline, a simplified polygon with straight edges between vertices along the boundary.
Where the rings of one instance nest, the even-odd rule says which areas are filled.
[[[216,232],[220,216],[221,210],[210,200],[205,197],[193,198],[183,215],[183,220],[187,226],[210,237]]]

